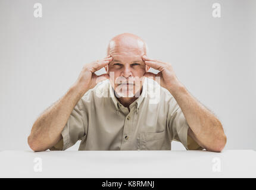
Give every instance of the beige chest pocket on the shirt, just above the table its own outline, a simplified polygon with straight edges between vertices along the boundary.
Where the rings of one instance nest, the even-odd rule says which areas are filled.
[[[139,135],[139,150],[170,150],[171,144],[166,138],[166,131],[143,132]]]

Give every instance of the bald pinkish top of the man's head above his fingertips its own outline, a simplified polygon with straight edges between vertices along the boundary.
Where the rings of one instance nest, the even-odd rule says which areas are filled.
[[[130,53],[142,53],[146,54],[148,47],[144,40],[139,36],[130,33],[118,34],[113,37],[108,43],[107,55],[113,55],[117,52],[126,52]]]

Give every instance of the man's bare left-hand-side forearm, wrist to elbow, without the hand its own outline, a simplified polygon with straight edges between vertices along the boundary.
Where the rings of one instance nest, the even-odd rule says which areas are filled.
[[[74,106],[83,94],[79,85],[73,85],[60,100],[42,113],[33,124],[32,131],[27,139],[32,150],[47,150],[58,143]]]

